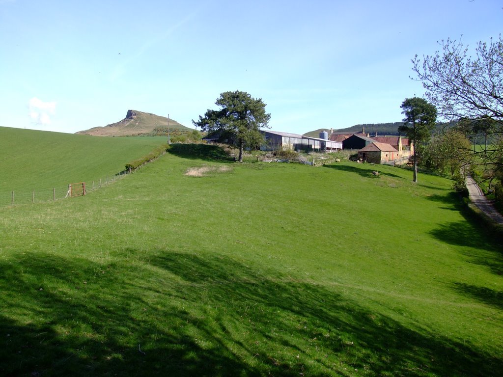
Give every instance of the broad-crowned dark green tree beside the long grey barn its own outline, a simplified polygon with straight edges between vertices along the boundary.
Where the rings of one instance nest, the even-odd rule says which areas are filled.
[[[192,121],[202,131],[232,135],[239,149],[239,162],[243,149],[253,147],[263,140],[260,129],[269,128],[271,114],[266,113],[262,99],[251,98],[245,91],[225,91],[215,102],[220,110],[208,110],[204,117]]]

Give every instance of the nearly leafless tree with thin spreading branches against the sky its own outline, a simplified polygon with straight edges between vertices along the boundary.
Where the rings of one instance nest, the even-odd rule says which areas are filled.
[[[483,164],[503,170],[503,40],[479,42],[470,54],[460,41],[442,40],[435,55],[412,59],[413,71],[427,89],[426,98],[445,119],[458,121],[467,135],[491,139],[473,150]],[[473,55],[473,56],[472,56]],[[466,126],[469,127],[466,127]],[[460,128],[461,129],[461,128]]]

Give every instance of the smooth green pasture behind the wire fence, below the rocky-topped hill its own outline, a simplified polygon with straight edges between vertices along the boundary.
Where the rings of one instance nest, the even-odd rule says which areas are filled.
[[[0,194],[106,179],[166,142],[0,127]]]

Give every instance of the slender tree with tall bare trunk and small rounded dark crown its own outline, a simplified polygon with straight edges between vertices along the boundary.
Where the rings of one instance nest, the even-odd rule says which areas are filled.
[[[413,181],[417,182],[417,156],[421,154],[421,144],[431,138],[437,121],[437,109],[425,99],[418,97],[406,98],[400,108],[405,118],[403,125],[398,127],[398,132],[404,132],[412,141],[414,147]]]

